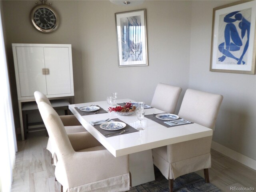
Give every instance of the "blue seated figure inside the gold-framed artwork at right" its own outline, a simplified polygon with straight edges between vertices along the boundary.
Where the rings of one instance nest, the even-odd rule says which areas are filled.
[[[244,54],[246,53],[249,45],[249,37],[250,37],[250,22],[248,22],[240,11],[235,11],[227,14],[224,17],[224,22],[226,22],[226,27],[224,31],[224,38],[225,42],[219,44],[218,48],[220,52],[222,52],[223,56],[218,58],[220,62],[223,62],[226,57],[233,58],[237,60],[237,64],[245,64],[243,61]],[[232,18],[234,16],[234,18]],[[238,26],[241,31],[241,37],[242,39],[244,36],[247,37],[247,41],[244,45],[244,50],[242,54],[240,55],[240,58],[235,57],[231,52],[239,51],[242,44],[242,39],[239,36],[238,30],[234,24],[234,22],[240,21]]]

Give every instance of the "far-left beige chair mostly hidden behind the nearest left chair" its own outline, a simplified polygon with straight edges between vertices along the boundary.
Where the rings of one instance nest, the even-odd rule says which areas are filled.
[[[34,96],[37,104],[39,102],[45,102],[48,105],[52,106],[50,100],[42,92],[35,91]],[[80,124],[80,122],[74,115],[62,115],[60,116],[60,119],[65,126],[67,134],[86,132],[86,129]],[[55,146],[52,144],[51,138],[49,137],[46,149],[52,154],[52,164],[56,165],[56,163],[58,162],[58,158],[56,156],[54,148]]]

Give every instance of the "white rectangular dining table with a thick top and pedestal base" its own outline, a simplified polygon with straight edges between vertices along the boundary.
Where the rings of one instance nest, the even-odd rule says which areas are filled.
[[[124,102],[134,102],[134,100],[116,100],[116,103]],[[75,109],[75,107],[90,105],[98,105],[104,110],[108,110],[109,107],[106,101],[99,101],[72,104],[69,105],[69,109],[76,116],[79,122],[86,128],[86,130],[90,132],[90,134],[92,134],[92,136],[94,136],[110,153],[112,153],[113,156],[118,157],[129,154],[132,186],[150,182],[155,179],[151,152],[152,148],[208,137],[212,136],[213,134],[212,129],[196,123],[168,128],[157,122],[154,122],[153,120],[144,118],[143,123],[146,123],[145,130],[120,134],[107,138],[103,136],[98,130],[96,130],[94,126],[90,125],[90,122],[96,120],[104,120],[107,118],[119,118],[126,124],[136,128],[138,125],[136,113],[129,116],[121,116],[116,114],[116,112],[81,116]],[[145,109],[145,115],[158,113],[164,113],[164,111],[158,110],[156,108]]]

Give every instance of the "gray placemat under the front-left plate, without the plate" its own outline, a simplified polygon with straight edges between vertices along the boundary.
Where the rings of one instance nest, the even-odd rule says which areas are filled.
[[[113,121],[119,121],[119,122],[123,122],[121,121],[120,119],[118,118],[115,118],[115,119],[112,119]],[[125,122],[124,122],[125,123]],[[126,124],[126,123],[125,123]],[[94,125],[94,128],[96,128],[102,135],[104,134],[112,134],[112,133],[119,133],[123,130],[127,131],[127,132],[124,132],[123,134],[129,134],[129,133],[132,133],[132,132],[137,132],[138,130],[133,128],[132,126],[126,124],[126,126],[123,128],[123,129],[120,129],[120,130],[116,130],[116,131],[109,131],[109,130],[104,130],[102,128],[100,128],[100,125]],[[122,135],[123,135],[122,134]],[[118,136],[118,135],[121,135],[121,134],[115,134],[115,135],[104,135],[105,137],[114,137],[114,136]]]

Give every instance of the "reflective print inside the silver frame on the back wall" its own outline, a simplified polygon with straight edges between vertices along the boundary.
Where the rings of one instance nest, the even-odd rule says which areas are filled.
[[[122,60],[142,61],[142,42],[144,26],[141,26],[140,16],[120,18]]]

